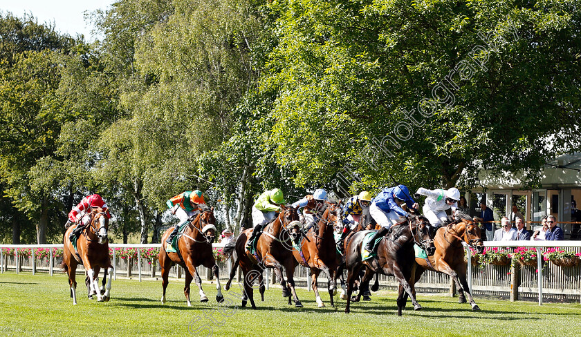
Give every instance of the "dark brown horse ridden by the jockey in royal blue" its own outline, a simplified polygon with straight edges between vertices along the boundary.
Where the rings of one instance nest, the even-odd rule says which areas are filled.
[[[349,313],[353,285],[359,278],[360,270],[364,267],[374,273],[394,276],[409,297],[412,298],[414,310],[422,309],[421,305],[416,301],[413,285],[409,285],[408,280],[415,269],[414,244],[426,250],[428,255],[434,253],[434,242],[428,227],[427,219],[421,216],[413,215],[411,220],[407,218],[400,219],[400,222],[394,224],[389,234],[382,237],[378,243],[377,258],[370,258],[365,261],[362,261],[361,257],[362,243],[365,236],[371,231],[358,231],[353,234],[351,240],[346,242],[347,246],[345,247],[345,262],[348,271],[346,313]],[[369,277],[364,277],[362,280],[362,288],[364,287],[363,283],[367,287],[369,285]],[[404,298],[403,293],[400,293],[397,299],[398,316],[401,316],[405,300],[407,298]]]

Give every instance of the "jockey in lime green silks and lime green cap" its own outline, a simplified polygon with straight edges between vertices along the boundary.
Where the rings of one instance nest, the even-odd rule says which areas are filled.
[[[252,206],[252,235],[246,242],[246,248],[250,247],[250,242],[254,240],[266,224],[273,220],[276,213],[280,211],[280,204],[284,204],[284,195],[280,189],[272,189],[262,193]]]

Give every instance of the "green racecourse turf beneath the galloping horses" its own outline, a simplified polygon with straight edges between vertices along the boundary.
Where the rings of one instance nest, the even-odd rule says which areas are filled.
[[[67,278],[58,273],[0,275],[0,336],[580,336],[581,305],[509,302],[477,298],[482,311],[471,311],[457,298],[419,294],[421,311],[408,302],[396,316],[396,293],[376,293],[371,302],[357,302],[344,314],[322,298],[317,308],[312,292],[300,290],[304,308],[288,306],[278,288],[266,291],[258,309],[236,307],[238,296],[225,292],[219,308],[214,285],[204,284],[210,302],[199,302],[192,287],[192,307],[186,307],[184,280],[170,279],[162,305],[161,282],[115,280],[110,302],[86,298],[78,278],[78,305],[69,298]],[[238,291],[237,285],[233,290]],[[258,294],[256,294],[258,295]],[[256,297],[256,296],[255,296]],[[230,301],[232,300],[232,301]],[[221,311],[220,311],[221,310]]]

